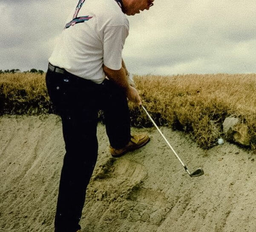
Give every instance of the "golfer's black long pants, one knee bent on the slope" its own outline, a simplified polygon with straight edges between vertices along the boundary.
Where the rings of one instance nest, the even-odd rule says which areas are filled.
[[[68,72],[46,73],[46,86],[62,119],[66,154],[60,175],[55,232],[76,232],[85,202],[86,187],[98,156],[98,110],[104,111],[106,133],[114,148],[130,140],[127,97],[109,80],[93,83]]]

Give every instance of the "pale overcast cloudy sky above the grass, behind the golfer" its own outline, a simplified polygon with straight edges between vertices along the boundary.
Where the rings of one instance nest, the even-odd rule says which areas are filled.
[[[0,0],[0,69],[46,71],[77,0]],[[256,73],[255,0],[155,0],[129,16],[133,74]]]

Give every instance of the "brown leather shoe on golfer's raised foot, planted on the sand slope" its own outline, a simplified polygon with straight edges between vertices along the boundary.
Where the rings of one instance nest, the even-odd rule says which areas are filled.
[[[139,134],[139,135],[132,135],[129,143],[123,148],[115,149],[115,148],[112,148],[112,146],[109,146],[110,147],[109,150],[112,157],[120,157],[127,152],[134,151],[146,145],[149,141],[150,141],[150,137],[148,137],[146,133]]]

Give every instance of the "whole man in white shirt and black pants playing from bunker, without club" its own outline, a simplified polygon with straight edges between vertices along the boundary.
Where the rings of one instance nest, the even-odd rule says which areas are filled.
[[[55,232],[79,232],[86,187],[98,155],[98,110],[104,112],[113,157],[144,146],[146,134],[131,135],[128,100],[141,105],[128,78],[122,50],[127,15],[152,0],[79,0],[49,58],[46,86],[63,127],[66,154],[60,175]]]

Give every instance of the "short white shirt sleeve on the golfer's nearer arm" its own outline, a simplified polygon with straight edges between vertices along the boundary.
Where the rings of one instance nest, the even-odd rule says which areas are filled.
[[[129,26],[106,26],[103,37],[103,63],[109,69],[119,70],[122,67],[122,51],[129,34]]]

